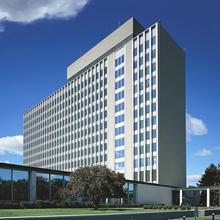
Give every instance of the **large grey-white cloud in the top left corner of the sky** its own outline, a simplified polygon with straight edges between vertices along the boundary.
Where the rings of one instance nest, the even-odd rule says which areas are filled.
[[[75,17],[90,0],[0,0],[1,23],[12,21],[31,23],[39,19]]]

